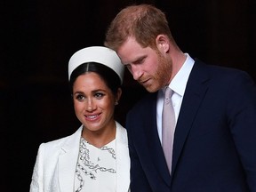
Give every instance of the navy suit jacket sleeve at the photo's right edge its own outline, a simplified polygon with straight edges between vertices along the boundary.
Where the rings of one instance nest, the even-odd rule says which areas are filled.
[[[256,191],[256,86],[250,76],[234,81],[228,102],[228,124],[250,191]]]

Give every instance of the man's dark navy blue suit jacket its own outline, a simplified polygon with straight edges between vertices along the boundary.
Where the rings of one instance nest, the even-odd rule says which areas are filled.
[[[236,69],[196,60],[176,125],[172,176],[156,128],[156,95],[126,118],[132,192],[256,191],[256,87]]]

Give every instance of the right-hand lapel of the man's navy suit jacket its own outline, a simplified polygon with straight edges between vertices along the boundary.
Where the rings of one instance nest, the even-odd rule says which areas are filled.
[[[196,60],[188,78],[188,84],[182,100],[180,115],[174,135],[172,174],[175,172],[182,148],[185,145],[188,133],[195,119],[197,109],[200,107],[208,89],[207,82],[209,80],[209,76],[207,76],[203,68],[204,64],[202,65],[200,61]]]

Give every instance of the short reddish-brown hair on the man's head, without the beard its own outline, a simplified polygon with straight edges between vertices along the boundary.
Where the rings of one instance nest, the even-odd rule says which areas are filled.
[[[110,23],[104,44],[117,51],[128,37],[134,37],[142,47],[156,48],[156,36],[160,34],[175,44],[164,12],[150,4],[130,5]]]

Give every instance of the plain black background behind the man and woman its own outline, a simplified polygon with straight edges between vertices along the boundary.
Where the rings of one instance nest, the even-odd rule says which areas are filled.
[[[76,131],[68,60],[85,46],[102,45],[109,22],[132,3],[166,12],[183,52],[256,79],[254,0],[1,1],[1,191],[28,191],[39,144]],[[116,116],[121,124],[144,93],[126,72]]]

